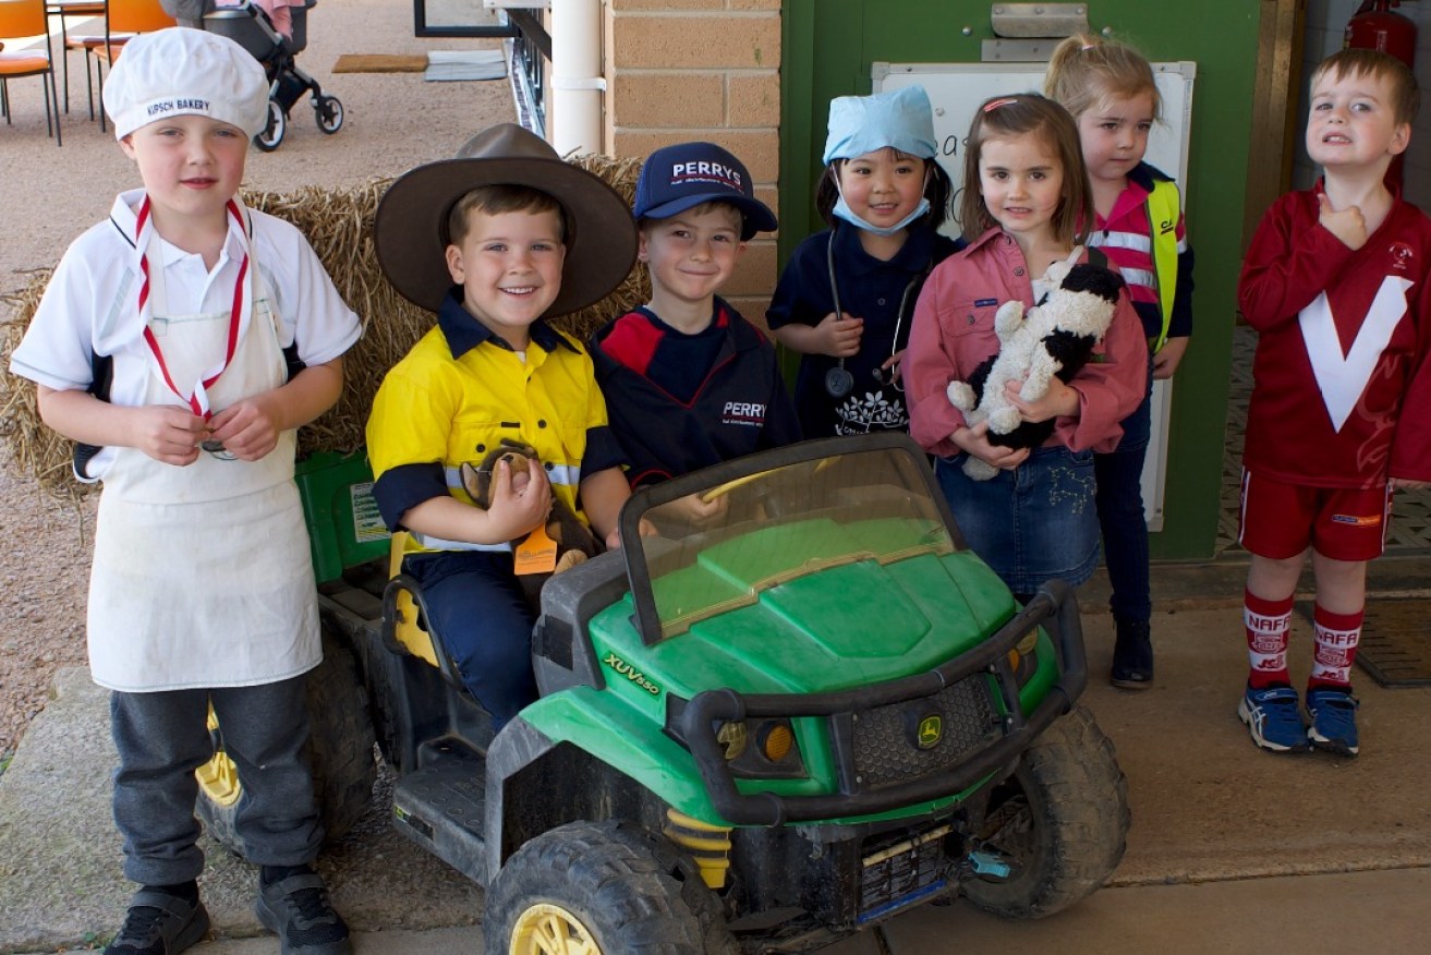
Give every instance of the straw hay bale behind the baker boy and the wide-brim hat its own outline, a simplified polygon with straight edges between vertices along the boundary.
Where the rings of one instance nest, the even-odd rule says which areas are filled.
[[[630,205],[640,160],[578,156],[570,162],[600,176]],[[346,454],[361,448],[382,377],[432,326],[432,314],[398,295],[378,268],[372,222],[391,182],[378,179],[339,189],[303,186],[286,193],[243,193],[250,208],[286,219],[308,236],[338,292],[362,319],[362,338],[343,358],[343,394],[333,408],[299,430],[299,454]],[[34,387],[9,372],[10,354],[34,316],[49,276],[50,269],[36,271],[24,289],[6,298],[11,318],[0,326],[0,365],[4,368],[0,374],[0,445],[9,451],[10,465],[17,472],[37,480],[56,497],[74,500],[87,488],[70,475],[73,442],[40,421]],[[650,294],[645,268],[637,265],[605,299],[552,324],[585,341],[615,315],[645,302]]]

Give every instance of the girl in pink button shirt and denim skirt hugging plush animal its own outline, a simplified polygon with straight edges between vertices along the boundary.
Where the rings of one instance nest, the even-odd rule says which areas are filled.
[[[910,434],[937,455],[934,472],[969,546],[1020,600],[1053,577],[1080,584],[1098,563],[1093,451],[1122,437],[1119,422],[1148,385],[1148,342],[1119,294],[1093,361],[1072,379],[1053,378],[1043,398],[1009,399],[1023,421],[1053,421],[1039,448],[990,442],[986,421],[969,427],[946,395],[952,381],[999,351],[993,316],[1019,299],[1039,304],[1055,262],[1086,261],[1092,189],[1068,112],[1036,93],[990,99],[975,113],[964,153],[960,222],[969,248],[939,265],[914,308],[904,375]],[[999,472],[967,477],[964,455]]]

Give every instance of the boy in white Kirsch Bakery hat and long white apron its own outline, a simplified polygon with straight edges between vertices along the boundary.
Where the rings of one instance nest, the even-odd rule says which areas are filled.
[[[285,954],[351,951],[311,863],[322,842],[305,673],[322,659],[295,430],[342,389],[359,325],[303,236],[236,199],[263,67],[220,36],[135,37],[104,107],[143,188],[64,253],[10,369],[103,480],[89,660],[113,692],[114,822],[142,888],[107,952],[209,931],[195,769],[210,704],[238,766],[233,826]]]

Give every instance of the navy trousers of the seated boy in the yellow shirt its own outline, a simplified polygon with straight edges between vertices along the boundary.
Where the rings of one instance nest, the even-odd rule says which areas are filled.
[[[422,584],[429,624],[462,683],[499,729],[537,699],[537,619],[512,573],[511,553],[441,551],[408,557],[405,567]]]

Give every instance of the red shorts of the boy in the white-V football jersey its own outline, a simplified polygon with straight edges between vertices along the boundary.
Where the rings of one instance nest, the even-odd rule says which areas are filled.
[[[1332,560],[1364,561],[1387,548],[1391,483],[1385,487],[1307,487],[1242,470],[1238,543],[1271,560],[1308,547]]]

